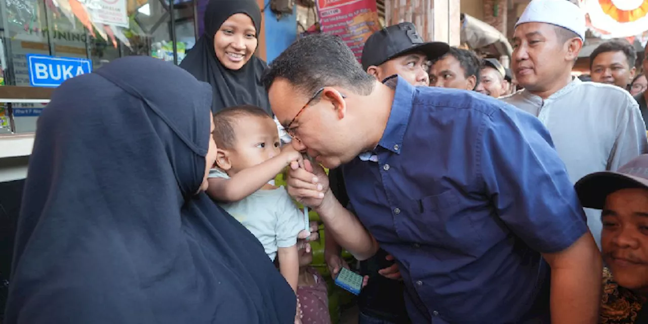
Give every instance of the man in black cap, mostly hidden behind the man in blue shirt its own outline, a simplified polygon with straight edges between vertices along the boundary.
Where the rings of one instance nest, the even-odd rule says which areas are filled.
[[[412,23],[399,23],[378,30],[365,42],[361,64],[377,80],[399,75],[413,86],[428,86],[430,60],[443,56],[450,47],[446,43],[424,43]],[[344,179],[339,169],[329,171],[330,187],[343,205],[349,203]],[[340,246],[327,235],[325,259],[332,275],[346,266],[340,257]],[[410,323],[403,298],[404,284],[393,257],[383,249],[360,262],[362,275],[370,279],[360,292],[360,324]]]

